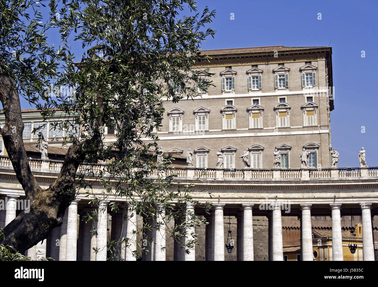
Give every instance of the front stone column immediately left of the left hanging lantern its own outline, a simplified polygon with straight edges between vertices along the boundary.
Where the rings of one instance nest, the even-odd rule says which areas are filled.
[[[225,204],[214,204],[214,261],[225,261],[225,227],[223,223],[223,207]]]

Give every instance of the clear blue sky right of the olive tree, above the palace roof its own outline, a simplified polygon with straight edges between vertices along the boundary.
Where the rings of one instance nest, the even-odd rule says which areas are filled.
[[[367,164],[378,166],[375,152],[378,1],[201,0],[198,10],[206,5],[216,10],[210,26],[217,32],[214,39],[203,43],[203,49],[329,44],[335,86],[332,146],[340,153],[339,166],[359,166],[358,151],[362,146],[367,150]],[[230,19],[231,13],[234,20]],[[49,39],[59,45],[59,35]],[[361,51],[365,51],[364,58]],[[29,105],[22,101],[22,108]]]

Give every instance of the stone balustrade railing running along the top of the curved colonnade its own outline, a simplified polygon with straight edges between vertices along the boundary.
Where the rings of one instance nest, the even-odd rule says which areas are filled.
[[[59,173],[63,161],[29,159],[29,166],[33,171]],[[0,169],[13,169],[9,157],[0,156]],[[106,170],[106,164],[82,164],[78,171],[92,172],[98,175]],[[328,167],[322,169],[199,169],[194,167],[171,167],[166,173],[160,176],[177,175],[178,178],[186,179],[215,179],[215,180],[328,180],[333,178],[378,178],[378,167]],[[155,169],[150,173],[151,178],[156,178],[158,171]]]

